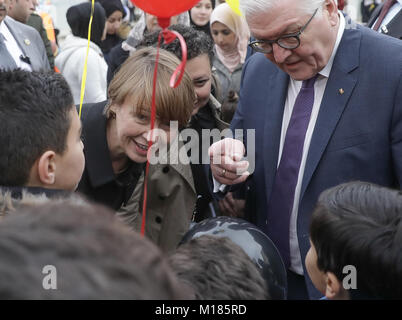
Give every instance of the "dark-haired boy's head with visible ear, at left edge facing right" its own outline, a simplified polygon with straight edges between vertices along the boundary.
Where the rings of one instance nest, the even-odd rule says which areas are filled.
[[[0,185],[75,190],[81,122],[60,74],[0,71],[0,123]]]

